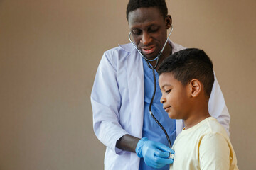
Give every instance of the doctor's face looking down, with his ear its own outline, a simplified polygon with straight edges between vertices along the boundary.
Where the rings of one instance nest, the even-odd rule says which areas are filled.
[[[156,57],[166,42],[171,16],[162,16],[156,7],[143,7],[131,11],[128,22],[132,40],[138,49],[148,59]]]

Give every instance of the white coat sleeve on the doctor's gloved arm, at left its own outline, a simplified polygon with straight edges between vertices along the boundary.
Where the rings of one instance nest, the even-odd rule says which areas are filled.
[[[113,152],[119,154],[117,140],[127,134],[119,124],[121,96],[117,84],[117,63],[110,56],[116,52],[107,51],[100,61],[92,87],[91,103],[93,129],[97,138]]]

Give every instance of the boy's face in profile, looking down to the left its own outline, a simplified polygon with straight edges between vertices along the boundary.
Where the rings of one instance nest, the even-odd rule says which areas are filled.
[[[189,85],[183,86],[173,74],[166,72],[159,76],[159,86],[162,93],[160,101],[169,118],[186,119],[191,108]]]

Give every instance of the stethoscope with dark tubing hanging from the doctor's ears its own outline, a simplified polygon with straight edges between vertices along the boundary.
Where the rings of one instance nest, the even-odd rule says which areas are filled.
[[[157,123],[157,124],[161,127],[161,129],[164,131],[164,134],[166,135],[166,138],[167,138],[167,140],[168,140],[168,143],[169,143],[169,147],[170,147],[170,148],[171,148],[171,141],[170,141],[169,135],[167,134],[166,130],[165,130],[164,127],[161,125],[161,123],[159,123],[159,120],[157,120],[157,119],[154,117],[154,115],[153,115],[153,113],[152,113],[152,111],[151,111],[151,106],[152,106],[152,104],[153,104],[154,96],[155,96],[155,94],[156,94],[156,74],[155,74],[154,71],[155,71],[157,65],[159,64],[159,58],[161,57],[161,55],[162,55],[162,53],[163,53],[163,51],[164,51],[164,47],[166,46],[166,44],[167,44],[167,42],[168,42],[168,40],[169,40],[169,37],[170,37],[172,31],[173,31],[173,26],[171,25],[171,31],[170,31],[170,33],[169,33],[169,35],[168,35],[168,38],[166,39],[166,42],[164,43],[164,46],[162,47],[162,50],[161,50],[161,51],[159,52],[159,54],[158,54],[154,59],[152,59],[152,60],[147,59],[144,55],[142,55],[142,52],[139,51],[139,49],[137,48],[137,46],[134,44],[134,42],[133,42],[132,39],[131,39],[131,34],[132,34],[132,32],[129,32],[129,36],[128,36],[129,41],[132,42],[132,45],[134,45],[135,49],[139,52],[140,55],[142,55],[143,59],[146,61],[146,64],[148,65],[148,67],[149,67],[150,69],[152,69],[152,71],[153,71],[153,75],[154,75],[154,93],[153,93],[153,95],[152,95],[152,97],[151,97],[151,101],[150,101],[150,104],[149,104],[149,114],[152,116],[152,118],[156,121],[156,123]],[[156,60],[156,64],[155,64],[154,66],[151,66],[151,64],[150,64],[149,62],[152,62],[152,61],[155,61],[155,60]]]

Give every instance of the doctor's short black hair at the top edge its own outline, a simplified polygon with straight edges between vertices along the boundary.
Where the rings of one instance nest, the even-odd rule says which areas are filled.
[[[127,4],[127,21],[129,12],[142,7],[157,7],[164,18],[166,18],[168,13],[165,0],[129,0]]]

